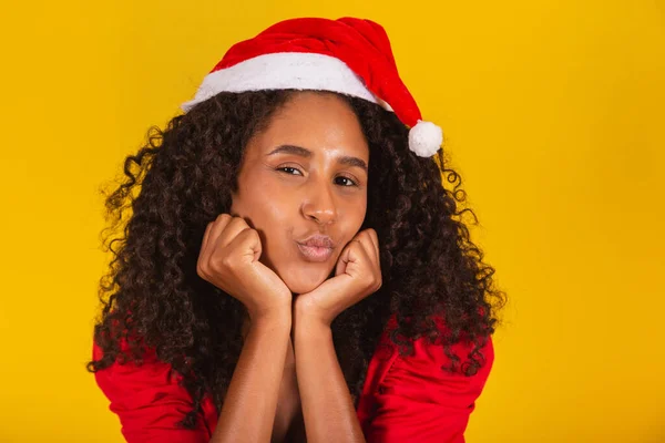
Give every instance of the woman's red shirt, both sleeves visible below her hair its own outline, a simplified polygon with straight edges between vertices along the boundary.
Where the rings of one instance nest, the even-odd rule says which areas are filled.
[[[388,326],[395,326],[392,317]],[[387,328],[388,330],[388,328]],[[472,377],[441,370],[450,359],[441,344],[424,338],[413,341],[412,356],[399,356],[388,339],[381,337],[367,369],[367,378],[358,400],[357,414],[368,443],[462,443],[469,415],[482,392],[494,360],[491,337],[481,353],[484,365]],[[457,343],[452,352],[462,361],[472,343]],[[93,343],[93,357],[101,349]],[[100,389],[111,401],[122,433],[129,443],[207,443],[217,424],[217,412],[209,396],[203,401],[203,416],[196,430],[182,430],[175,423],[183,419],[192,400],[177,384],[170,364],[146,358],[137,367],[119,364],[95,372]]]

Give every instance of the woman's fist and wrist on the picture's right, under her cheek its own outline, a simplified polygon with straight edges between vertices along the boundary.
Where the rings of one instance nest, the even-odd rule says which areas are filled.
[[[296,296],[294,313],[330,326],[340,312],[380,287],[379,239],[369,228],[358,233],[342,249],[335,277],[310,292]]]

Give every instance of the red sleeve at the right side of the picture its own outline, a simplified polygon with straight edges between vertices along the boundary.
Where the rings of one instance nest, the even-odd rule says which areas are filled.
[[[484,365],[472,377],[451,374],[441,344],[413,342],[413,354],[397,357],[375,393],[376,410],[366,437],[369,443],[462,443],[469,415],[482,392],[494,360],[491,337],[481,349]],[[466,361],[473,344],[452,351]]]

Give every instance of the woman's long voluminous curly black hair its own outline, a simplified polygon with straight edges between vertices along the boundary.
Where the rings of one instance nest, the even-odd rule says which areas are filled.
[[[196,261],[206,225],[228,213],[244,146],[269,123],[294,90],[219,93],[162,131],[124,162],[124,178],[106,195],[110,226],[103,244],[112,253],[100,280],[102,312],[94,340],[103,351],[91,372],[119,362],[139,364],[146,349],[180,374],[192,410],[180,425],[192,429],[209,394],[221,411],[239,357],[246,317],[235,298],[203,280]],[[330,92],[320,92],[330,93]],[[367,215],[361,229],[380,239],[379,293],[340,313],[331,324],[349,391],[357,401],[367,365],[388,319],[401,353],[410,340],[439,340],[451,359],[446,371],[474,374],[484,364],[479,350],[494,332],[505,293],[494,269],[471,241],[461,208],[461,178],[440,150],[423,158],[408,150],[408,128],[391,112],[337,94],[354,110],[369,145]],[[437,327],[433,316],[446,323]],[[474,343],[469,356],[451,346]],[[122,347],[124,342],[126,347]],[[468,359],[462,363],[460,357]]]

